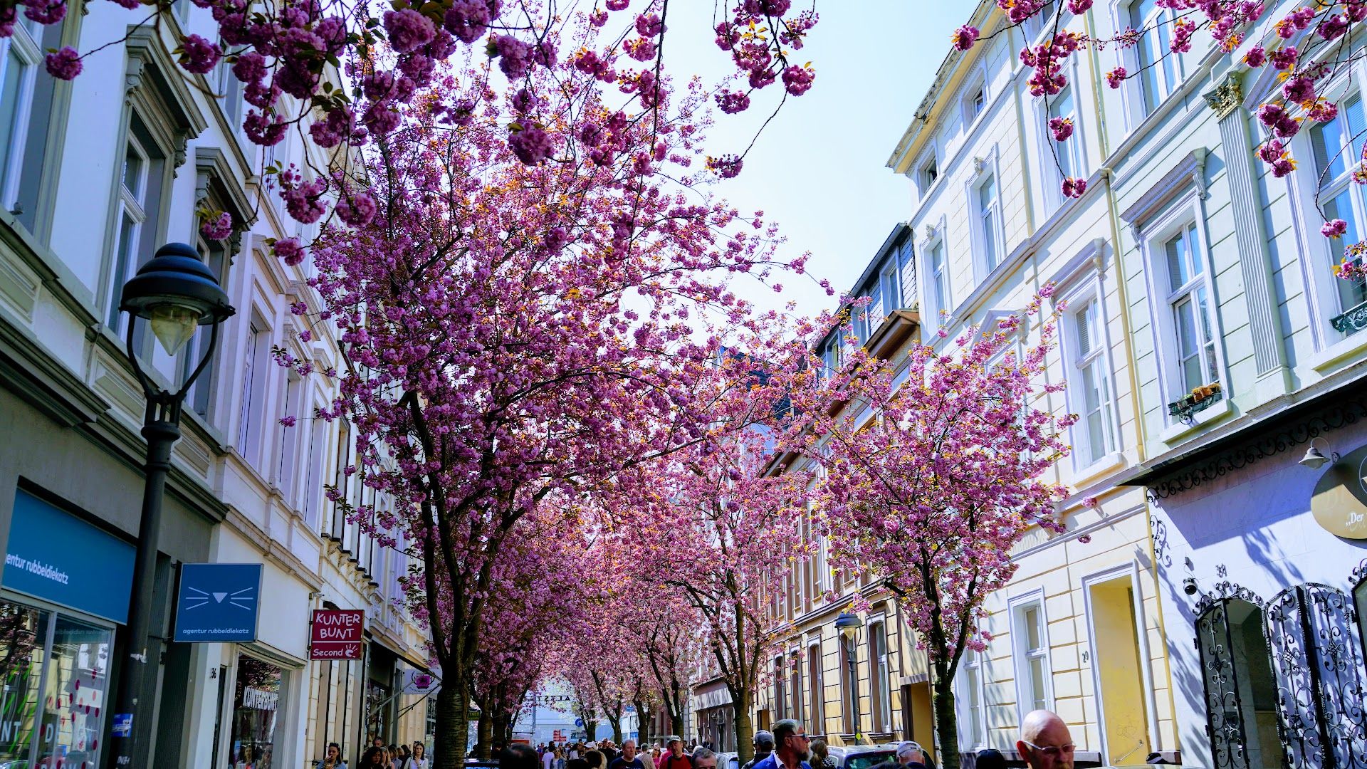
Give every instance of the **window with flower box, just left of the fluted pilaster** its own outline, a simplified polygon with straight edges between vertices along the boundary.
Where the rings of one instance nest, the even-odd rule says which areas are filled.
[[[1170,291],[1167,302],[1177,334],[1178,384],[1184,393],[1219,380],[1206,276],[1197,248],[1195,223],[1163,244]]]

